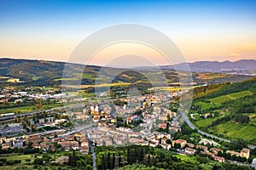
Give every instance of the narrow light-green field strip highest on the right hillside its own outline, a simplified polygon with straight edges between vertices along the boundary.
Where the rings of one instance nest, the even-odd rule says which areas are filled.
[[[222,96],[219,96],[217,98],[212,98],[212,99],[209,99],[209,100],[214,104],[221,104],[225,101],[229,101],[229,100],[232,100],[232,99],[240,99],[240,98],[243,98],[247,95],[252,95],[252,94],[253,94],[253,92],[246,90],[246,91],[237,92],[237,93],[234,93],[234,94],[222,95]]]

